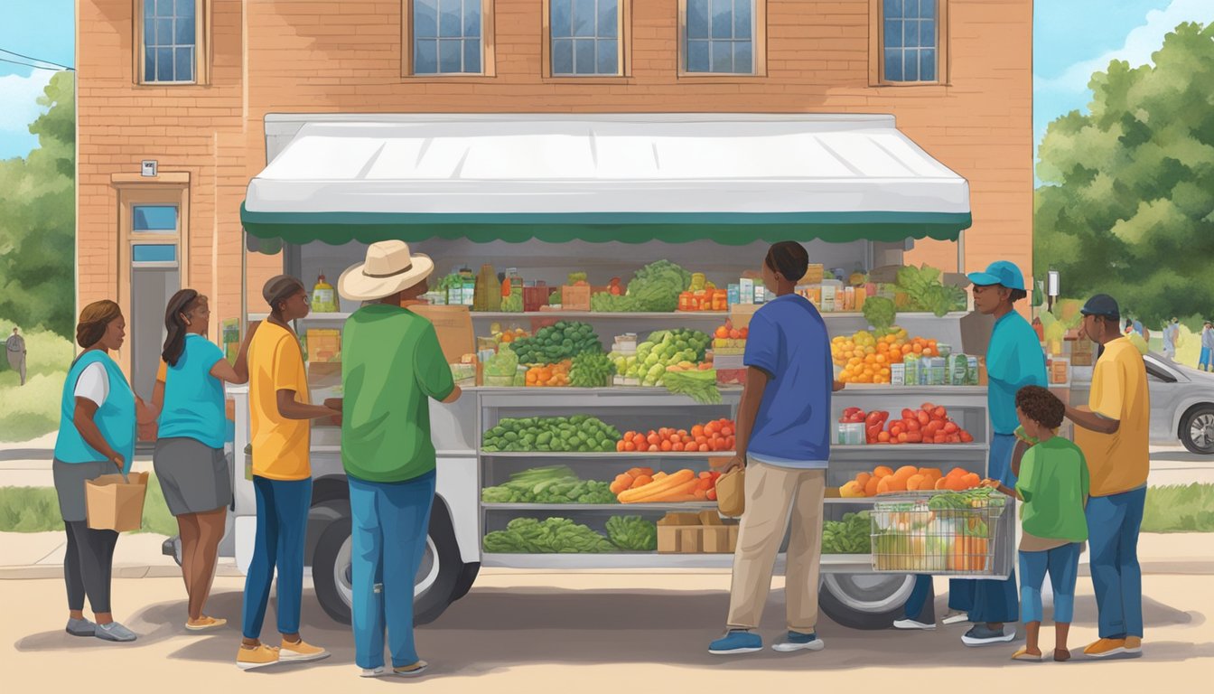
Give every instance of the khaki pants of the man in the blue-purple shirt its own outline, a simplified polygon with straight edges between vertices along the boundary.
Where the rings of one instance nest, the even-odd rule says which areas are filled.
[[[792,510],[784,597],[788,628],[813,633],[818,621],[818,568],[822,560],[822,498],[827,472],[779,468],[747,461],[747,509],[738,529],[730,588],[730,628],[759,628],[776,554]]]

